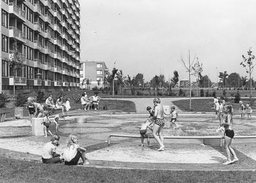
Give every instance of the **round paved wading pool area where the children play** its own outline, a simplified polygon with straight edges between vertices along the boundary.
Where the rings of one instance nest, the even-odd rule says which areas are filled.
[[[59,121],[61,136],[57,152],[62,152],[66,137],[78,134],[79,143],[87,149],[86,156],[91,167],[115,168],[150,168],[167,170],[225,170],[222,165],[226,160],[223,146],[214,143],[205,145],[197,137],[216,136],[222,137],[221,132],[216,132],[219,120],[213,113],[179,113],[178,127],[171,126],[169,118],[164,127],[165,151],[156,151],[158,144],[154,138],[150,139],[151,146],[139,146],[140,138],[108,137],[111,134],[139,136],[141,123],[148,114],[88,114],[87,123],[75,122],[76,116]],[[81,116],[79,116],[81,117]],[[234,116],[235,136],[256,135],[255,117],[241,119]],[[41,162],[42,148],[50,141],[48,137],[35,137],[29,134],[31,127],[26,119],[11,121],[7,119],[0,123],[0,154],[1,156],[16,159]],[[56,133],[55,124],[51,124],[50,131]],[[181,138],[179,138],[181,137]],[[190,137],[189,139],[182,139]],[[146,141],[146,140],[145,140]],[[228,165],[230,170],[255,170],[255,138],[234,139],[232,143],[239,161]],[[141,167],[142,166],[142,167]]]

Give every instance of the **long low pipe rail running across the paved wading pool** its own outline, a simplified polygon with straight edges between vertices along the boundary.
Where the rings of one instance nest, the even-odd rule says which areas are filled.
[[[110,146],[110,137],[126,137],[126,138],[141,138],[140,135],[121,135],[121,134],[111,134],[108,136],[108,146]],[[154,138],[154,137],[149,137]],[[165,139],[203,139],[203,143],[206,140],[219,140],[219,145],[222,146],[223,136],[164,136]],[[251,136],[235,136],[234,138],[256,138],[256,135]]]

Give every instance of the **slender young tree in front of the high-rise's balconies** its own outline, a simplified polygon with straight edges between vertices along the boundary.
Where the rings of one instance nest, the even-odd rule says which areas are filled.
[[[12,68],[14,76],[13,76],[13,102],[15,102],[15,77],[17,77],[17,71],[24,68],[24,60],[21,59],[20,52],[18,52],[17,41],[14,40],[12,44],[12,54],[10,59],[7,59],[8,65]]]

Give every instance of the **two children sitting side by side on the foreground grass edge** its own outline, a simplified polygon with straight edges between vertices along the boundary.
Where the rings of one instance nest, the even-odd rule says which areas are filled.
[[[86,159],[86,149],[78,145],[78,136],[70,134],[67,137],[64,152],[62,154],[56,153],[56,147],[59,146],[59,135],[51,135],[51,141],[43,146],[42,162],[43,163],[58,163],[64,160],[66,165],[77,165],[80,157],[83,162],[80,165],[89,165]]]

